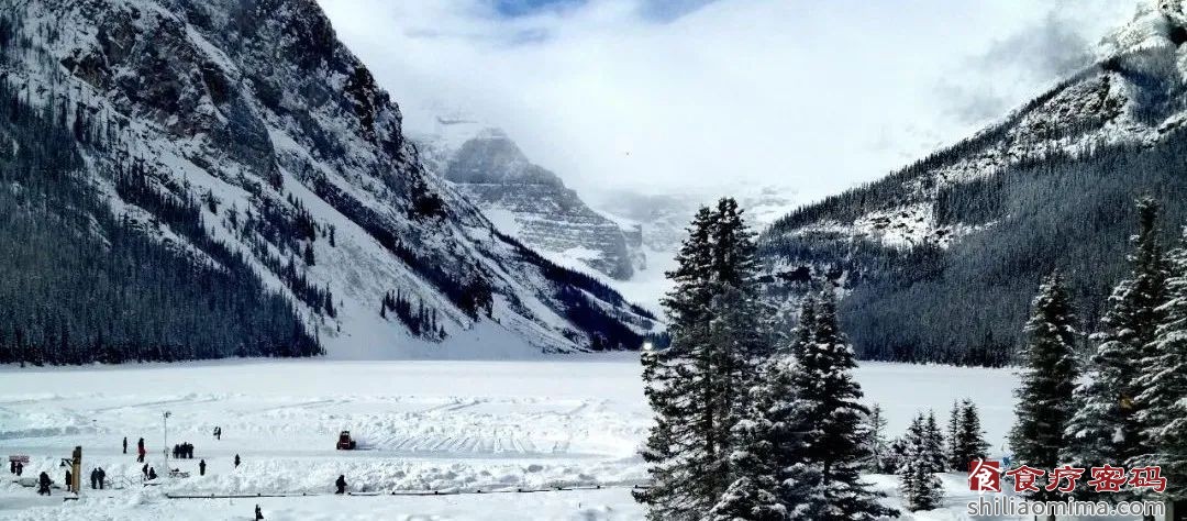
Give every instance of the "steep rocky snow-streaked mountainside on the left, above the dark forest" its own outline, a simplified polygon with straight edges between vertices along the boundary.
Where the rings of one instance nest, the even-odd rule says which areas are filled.
[[[85,174],[113,212],[201,250],[153,204],[201,201],[205,239],[242,254],[331,356],[633,348],[652,326],[427,174],[312,0],[17,0],[0,15],[0,77],[93,135]]]

